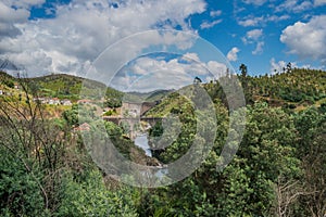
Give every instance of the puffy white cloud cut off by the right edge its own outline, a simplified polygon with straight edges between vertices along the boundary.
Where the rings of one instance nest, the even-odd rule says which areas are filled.
[[[308,23],[297,22],[286,27],[280,41],[289,52],[301,58],[312,58],[326,64],[326,15],[315,16]]]

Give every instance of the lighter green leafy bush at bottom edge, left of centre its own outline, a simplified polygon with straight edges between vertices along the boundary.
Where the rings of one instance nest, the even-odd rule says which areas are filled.
[[[66,176],[62,187],[62,202],[55,216],[138,216],[130,188],[109,190],[99,170],[88,171],[86,180],[77,182]],[[137,194],[136,194],[137,196]]]

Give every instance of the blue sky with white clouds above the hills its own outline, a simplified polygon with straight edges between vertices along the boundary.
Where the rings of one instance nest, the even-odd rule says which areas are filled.
[[[171,69],[187,77],[198,63],[236,73],[243,63],[250,75],[281,72],[288,62],[326,69],[325,12],[326,0],[2,0],[0,59],[28,76],[85,75],[104,63],[124,75],[160,66],[166,77]],[[178,55],[145,55],[159,47]]]

